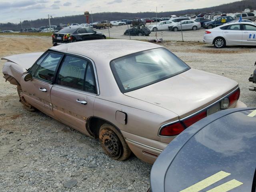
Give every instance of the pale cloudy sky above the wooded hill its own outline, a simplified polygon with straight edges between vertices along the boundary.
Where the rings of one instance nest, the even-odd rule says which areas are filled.
[[[237,0],[0,0],[0,22],[35,20],[96,12],[158,12],[204,8]]]

